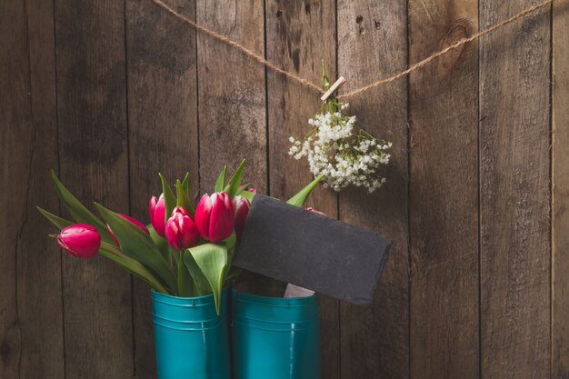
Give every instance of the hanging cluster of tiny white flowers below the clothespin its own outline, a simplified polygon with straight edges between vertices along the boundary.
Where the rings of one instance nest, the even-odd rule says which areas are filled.
[[[290,137],[288,152],[294,159],[304,156],[315,176],[324,174],[324,186],[339,192],[347,185],[364,186],[370,192],[381,187],[385,178],[377,173],[389,163],[386,153],[392,144],[378,141],[363,129],[354,134],[355,116],[344,115],[342,105],[336,112],[328,110],[308,120],[314,130],[302,141]]]

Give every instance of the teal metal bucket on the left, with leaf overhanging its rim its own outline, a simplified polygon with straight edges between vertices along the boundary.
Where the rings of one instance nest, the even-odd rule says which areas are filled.
[[[212,294],[152,291],[158,379],[230,379],[227,295],[224,288],[218,316]]]

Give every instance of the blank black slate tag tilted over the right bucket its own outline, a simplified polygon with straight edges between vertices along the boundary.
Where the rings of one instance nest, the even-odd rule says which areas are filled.
[[[256,194],[233,263],[354,304],[370,304],[391,240]]]

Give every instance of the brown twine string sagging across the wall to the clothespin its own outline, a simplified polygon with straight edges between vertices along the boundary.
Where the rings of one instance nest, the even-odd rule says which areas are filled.
[[[156,5],[159,5],[160,7],[165,9],[165,11],[167,11],[171,15],[174,15],[176,18],[184,21],[186,24],[192,25],[196,30],[199,30],[200,32],[204,33],[205,35],[209,35],[209,36],[217,39],[218,41],[221,41],[227,45],[233,46],[233,47],[235,47],[235,49],[240,50],[242,53],[244,53],[245,55],[248,55],[249,57],[251,57],[252,59],[257,61],[261,65],[265,65],[267,68],[269,68],[269,69],[271,69],[271,70],[273,70],[279,74],[282,74],[282,75],[290,78],[291,80],[293,80],[293,81],[295,81],[301,85],[312,88],[312,89],[314,89],[314,91],[316,91],[319,94],[324,94],[324,90],[322,88],[320,88],[320,86],[314,85],[314,83],[312,83],[308,79],[305,79],[302,76],[295,75],[293,73],[285,71],[282,68],[280,68],[280,67],[272,64],[271,62],[267,61],[263,55],[259,55],[259,54],[255,53],[254,51],[248,49],[244,45],[241,45],[241,44],[235,42],[234,40],[228,38],[225,35],[220,35],[219,33],[216,33],[213,30],[207,29],[206,27],[195,23],[191,19],[187,18],[185,15],[181,15],[179,12],[177,12],[171,6],[166,5],[162,0],[153,0],[153,2]],[[447,46],[443,50],[440,50],[440,51],[434,53],[433,55],[427,56],[426,58],[424,58],[424,60],[417,62],[414,65],[409,66],[409,68],[407,68],[404,71],[401,71],[398,74],[388,76],[384,79],[378,80],[377,82],[374,82],[371,85],[364,85],[363,87],[355,89],[354,91],[345,93],[343,95],[339,95],[339,96],[337,96],[337,98],[342,99],[342,98],[351,97],[351,96],[355,96],[355,95],[361,95],[362,93],[369,91],[371,89],[374,89],[380,85],[387,85],[389,83],[393,83],[394,81],[401,79],[402,77],[409,75],[409,74],[413,73],[414,71],[417,71],[417,70],[423,68],[425,65],[430,64],[435,59],[449,53],[450,51],[452,51],[452,50],[454,50],[454,49],[456,49],[462,45],[466,45],[470,42],[473,42],[473,41],[483,37],[484,35],[489,35],[489,34],[493,33],[494,31],[496,31],[497,29],[500,29],[501,27],[503,27],[505,25],[511,24],[514,21],[516,21],[520,18],[523,18],[526,15],[532,14],[535,11],[543,8],[544,6],[552,4],[553,2],[554,2],[554,0],[544,0],[544,2],[542,2],[542,3],[536,4],[534,6],[530,6],[529,8],[525,8],[523,11],[513,15],[512,17],[507,18],[498,24],[492,25],[487,29],[484,29],[482,32],[478,32],[478,33],[471,35],[467,38],[463,38],[463,39],[457,41],[456,43],[454,43],[453,45]]]

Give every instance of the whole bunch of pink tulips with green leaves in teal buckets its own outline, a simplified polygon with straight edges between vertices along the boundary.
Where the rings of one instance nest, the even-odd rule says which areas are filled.
[[[225,166],[214,193],[204,194],[197,204],[193,204],[189,194],[189,174],[183,181],[176,181],[175,193],[164,175],[160,175],[163,194],[150,199],[148,225],[95,203],[101,215],[97,217],[53,172],[59,198],[73,221],[40,207],[38,210],[61,229],[60,234],[51,236],[67,253],[82,258],[101,254],[160,293],[214,294],[219,313],[223,286],[240,274],[231,263],[256,194],[251,184],[242,185],[244,167],[245,160],[227,179]],[[303,206],[320,179],[316,178],[287,203]]]

